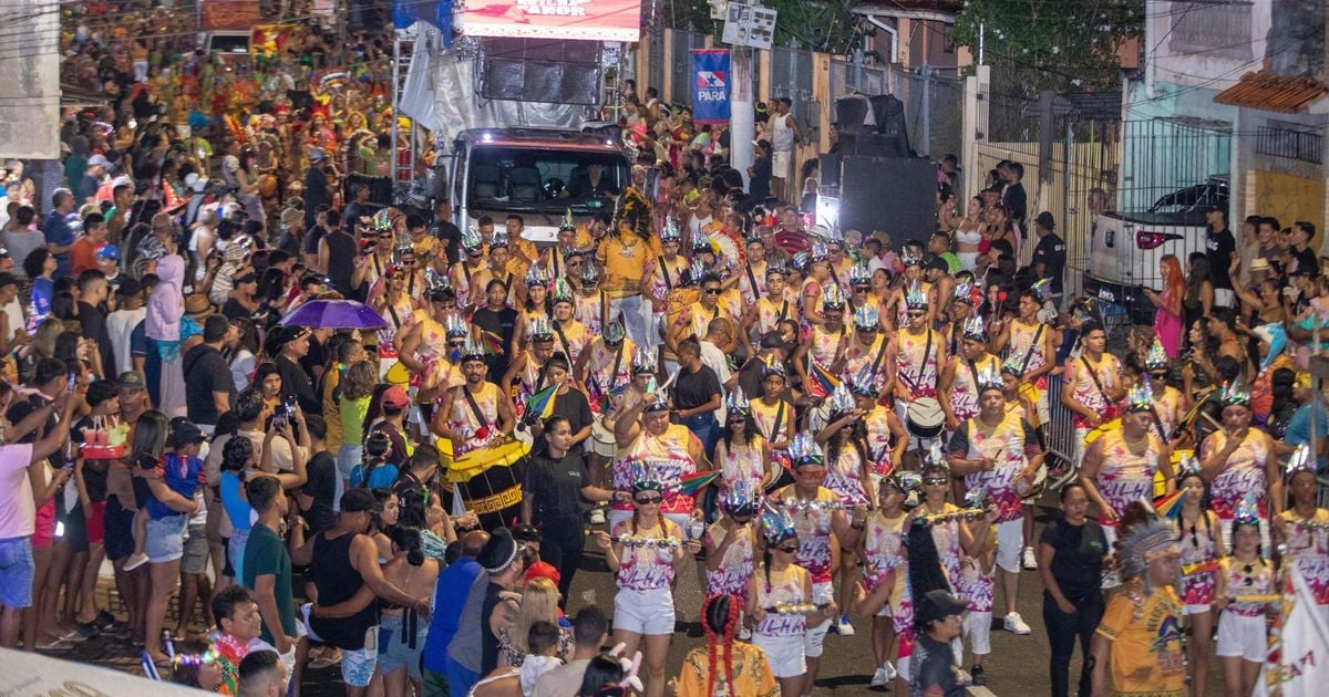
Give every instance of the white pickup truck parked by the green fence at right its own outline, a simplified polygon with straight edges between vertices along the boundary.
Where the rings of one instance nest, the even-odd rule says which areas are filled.
[[[1205,212],[1227,204],[1228,178],[1213,175],[1159,196],[1144,211],[1096,214],[1083,293],[1122,308],[1134,324],[1152,324],[1155,307],[1144,288],[1163,291],[1159,262],[1175,255],[1184,272],[1187,258],[1205,251]]]

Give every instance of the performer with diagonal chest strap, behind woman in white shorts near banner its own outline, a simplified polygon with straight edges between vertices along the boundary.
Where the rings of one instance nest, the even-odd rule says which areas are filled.
[[[1219,516],[1223,539],[1232,539],[1232,519],[1237,504],[1252,493],[1261,516],[1282,512],[1282,477],[1269,434],[1251,427],[1251,394],[1224,384],[1219,390],[1223,405],[1223,429],[1200,443],[1200,474],[1209,483],[1213,512]],[[1261,551],[1268,555],[1268,530],[1260,528]]]

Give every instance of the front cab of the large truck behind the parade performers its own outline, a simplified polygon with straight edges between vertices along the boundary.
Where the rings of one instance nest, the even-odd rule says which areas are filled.
[[[453,223],[466,230],[489,215],[502,226],[508,215],[525,222],[522,236],[554,244],[570,210],[586,223],[614,211],[631,185],[622,145],[603,133],[573,129],[469,129],[453,141],[448,193]]]

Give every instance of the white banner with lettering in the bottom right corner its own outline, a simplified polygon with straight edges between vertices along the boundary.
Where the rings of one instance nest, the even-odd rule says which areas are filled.
[[[1316,697],[1329,684],[1329,627],[1301,571],[1289,566],[1292,588],[1284,589],[1282,611],[1269,631],[1269,655],[1255,694]]]

